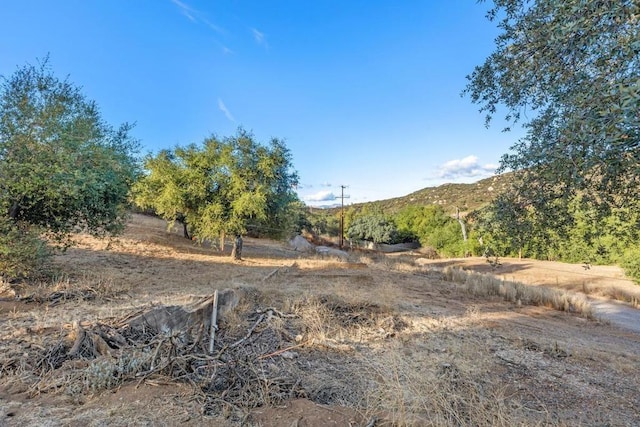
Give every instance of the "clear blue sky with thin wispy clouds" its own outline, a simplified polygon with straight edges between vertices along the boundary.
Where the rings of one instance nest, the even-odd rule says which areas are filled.
[[[492,174],[518,134],[460,96],[493,50],[487,3],[16,0],[0,74],[50,55],[143,151],[232,135],[284,139],[300,197],[349,203]],[[143,154],[144,154],[143,153]]]

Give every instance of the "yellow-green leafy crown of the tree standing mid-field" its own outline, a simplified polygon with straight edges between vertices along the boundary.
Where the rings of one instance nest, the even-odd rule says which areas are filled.
[[[134,201],[169,221],[188,224],[198,239],[244,234],[249,228],[268,234],[295,229],[293,188],[297,174],[284,143],[258,144],[239,129],[233,137],[207,138],[148,156],[146,175],[134,187]]]

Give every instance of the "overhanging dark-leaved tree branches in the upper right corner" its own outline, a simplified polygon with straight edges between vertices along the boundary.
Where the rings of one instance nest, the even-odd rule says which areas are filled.
[[[556,226],[581,195],[607,216],[640,192],[637,0],[494,0],[496,49],[465,93],[526,135],[501,160],[523,203]],[[560,206],[559,202],[562,202]],[[555,217],[555,218],[554,218]],[[562,231],[562,230],[559,230]]]

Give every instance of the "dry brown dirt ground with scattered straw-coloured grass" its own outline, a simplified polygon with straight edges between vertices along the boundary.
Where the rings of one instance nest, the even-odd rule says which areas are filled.
[[[0,288],[0,425],[640,425],[639,334],[473,294],[438,271],[459,264],[601,299],[636,292],[612,267],[343,261],[256,239],[232,262],[140,215],[117,240],[77,241],[54,283]],[[76,329],[124,335],[115,328],[132,314],[227,288],[240,303],[215,356],[162,334],[72,347]]]

